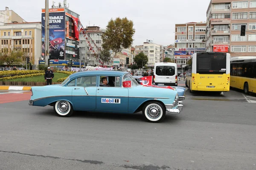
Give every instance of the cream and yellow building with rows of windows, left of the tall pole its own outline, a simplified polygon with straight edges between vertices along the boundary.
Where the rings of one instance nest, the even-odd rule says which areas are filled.
[[[0,51],[20,49],[33,65],[41,59],[41,22],[6,23],[0,26]]]

